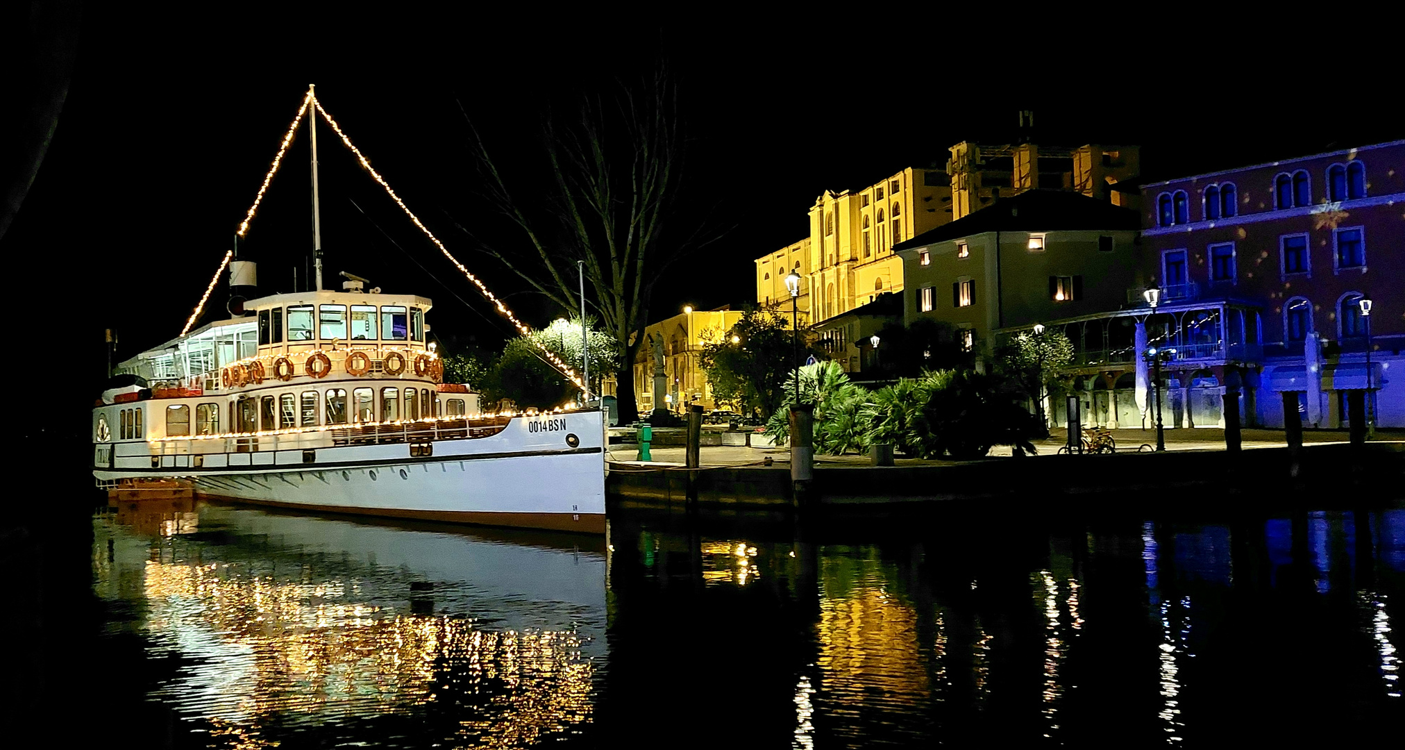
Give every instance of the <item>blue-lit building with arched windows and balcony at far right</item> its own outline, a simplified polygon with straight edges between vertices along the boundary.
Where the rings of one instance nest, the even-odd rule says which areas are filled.
[[[1243,424],[1283,427],[1297,412],[1305,427],[1340,428],[1353,392],[1377,426],[1405,427],[1405,140],[1142,191],[1123,309],[1048,322],[1078,347],[1086,423],[1152,421],[1156,347],[1168,427],[1224,426],[1228,393]]]

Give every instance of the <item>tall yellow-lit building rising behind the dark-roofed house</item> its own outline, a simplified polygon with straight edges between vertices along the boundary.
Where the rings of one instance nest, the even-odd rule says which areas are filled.
[[[1033,115],[1020,114],[1021,128]],[[961,142],[943,167],[908,167],[871,185],[826,191],[809,208],[809,237],[756,258],[756,302],[788,306],[784,277],[798,270],[799,309],[815,322],[902,292],[894,246],[1033,188],[1075,191],[1113,205],[1139,192],[1116,190],[1141,170],[1137,146],[1040,146]],[[1131,206],[1135,208],[1135,206]]]

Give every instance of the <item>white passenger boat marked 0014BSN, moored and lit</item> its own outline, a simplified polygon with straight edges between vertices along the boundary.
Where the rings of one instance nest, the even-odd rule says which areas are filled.
[[[599,410],[481,413],[443,382],[429,299],[348,274],[322,291],[316,257],[318,289],[251,299],[117,367],[93,409],[100,486],[176,479],[268,506],[604,532]],[[230,281],[253,287],[253,264]]]

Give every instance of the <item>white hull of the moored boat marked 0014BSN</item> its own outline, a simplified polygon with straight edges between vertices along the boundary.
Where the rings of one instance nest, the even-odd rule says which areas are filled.
[[[117,466],[94,475],[108,483],[173,478],[205,499],[313,513],[604,534],[600,416],[569,419],[580,430],[579,438],[570,435],[576,447],[555,435],[548,447],[548,438],[530,430],[541,420],[513,420],[490,438],[437,440],[434,455],[406,455],[406,444],[320,448],[311,463],[299,461],[302,451],[281,449],[207,452],[200,462],[118,455]],[[142,461],[146,466],[138,469]]]

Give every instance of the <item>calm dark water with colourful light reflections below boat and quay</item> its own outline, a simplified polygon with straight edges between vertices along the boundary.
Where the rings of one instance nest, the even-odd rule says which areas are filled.
[[[1405,718],[1405,510],[93,527],[91,647],[148,746],[1198,747]]]

